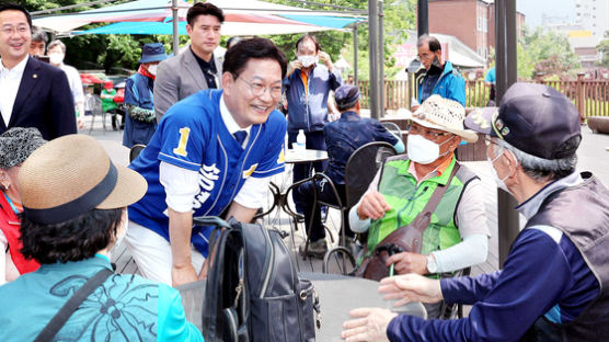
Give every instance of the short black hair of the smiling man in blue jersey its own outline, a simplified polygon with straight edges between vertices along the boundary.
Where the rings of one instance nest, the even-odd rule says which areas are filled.
[[[286,77],[287,61],[284,53],[269,39],[258,37],[243,39],[229,48],[225,55],[222,71],[238,78],[250,59],[274,59],[281,67],[281,79]]]

